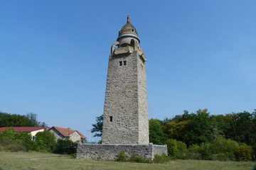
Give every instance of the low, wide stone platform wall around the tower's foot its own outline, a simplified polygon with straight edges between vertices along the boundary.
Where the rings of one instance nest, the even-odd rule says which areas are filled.
[[[78,145],[77,159],[116,159],[120,152],[128,157],[138,155],[154,159],[156,154],[167,154],[166,145],[123,145],[123,144],[80,144]]]

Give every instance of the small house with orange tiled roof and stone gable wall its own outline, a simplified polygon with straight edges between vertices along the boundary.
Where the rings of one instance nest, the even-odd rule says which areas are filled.
[[[52,128],[49,129],[50,132],[52,132],[56,139],[69,139],[72,140],[73,142],[85,140],[86,137],[82,135],[81,132],[78,130],[71,130],[70,128],[59,128],[56,126],[53,126]]]

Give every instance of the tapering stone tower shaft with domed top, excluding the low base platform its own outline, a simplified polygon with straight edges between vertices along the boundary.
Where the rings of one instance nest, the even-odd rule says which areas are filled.
[[[111,48],[102,144],[149,144],[146,57],[139,42],[127,16]]]

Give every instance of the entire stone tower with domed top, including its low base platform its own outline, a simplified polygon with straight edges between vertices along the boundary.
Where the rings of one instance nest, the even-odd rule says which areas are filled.
[[[78,145],[78,159],[116,159],[120,152],[154,159],[166,145],[149,143],[146,57],[127,16],[111,47],[103,117],[102,144]]]

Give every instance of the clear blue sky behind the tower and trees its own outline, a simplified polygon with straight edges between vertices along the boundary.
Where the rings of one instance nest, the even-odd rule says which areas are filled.
[[[252,112],[255,8],[252,0],[0,0],[0,111],[37,113],[89,137],[129,14],[148,60],[149,118]]]

